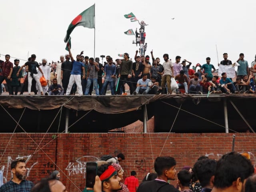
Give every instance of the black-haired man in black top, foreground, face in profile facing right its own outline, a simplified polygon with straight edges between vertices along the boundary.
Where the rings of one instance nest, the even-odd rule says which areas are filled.
[[[179,192],[178,189],[167,182],[168,180],[175,180],[175,166],[176,160],[173,157],[157,157],[154,163],[157,178],[151,181],[142,182],[138,187],[137,192]]]

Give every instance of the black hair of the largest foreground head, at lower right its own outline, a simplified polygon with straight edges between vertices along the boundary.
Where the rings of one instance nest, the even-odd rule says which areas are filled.
[[[221,157],[217,162],[214,177],[216,188],[227,188],[237,178],[243,183],[246,178],[254,173],[252,162],[237,152],[230,152]]]

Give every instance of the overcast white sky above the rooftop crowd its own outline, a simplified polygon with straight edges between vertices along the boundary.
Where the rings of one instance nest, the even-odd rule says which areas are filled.
[[[37,61],[59,60],[67,53],[64,37],[70,22],[95,3],[95,57],[128,52],[134,58],[135,36],[124,34],[132,28],[140,28],[138,22],[130,22],[124,14],[133,12],[138,20],[144,20],[150,55],[163,62],[163,54],[172,60],[182,59],[204,64],[206,57],[218,68],[228,53],[235,62],[240,52],[250,63],[256,54],[256,2],[253,0],[5,0],[1,2],[0,54],[27,59],[36,54]],[[171,18],[175,18],[172,20]],[[84,50],[84,56],[94,57],[94,29],[78,26],[71,33],[72,54]],[[218,48],[218,59],[216,53]],[[13,62],[13,58],[11,61]],[[151,60],[151,56],[150,56]],[[100,60],[101,62],[102,60]],[[105,61],[105,59],[104,59]],[[20,64],[24,64],[21,61]]]

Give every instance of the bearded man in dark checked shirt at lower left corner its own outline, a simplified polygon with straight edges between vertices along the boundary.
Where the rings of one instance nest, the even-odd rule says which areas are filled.
[[[23,158],[14,160],[11,169],[13,178],[0,187],[0,192],[29,192],[33,183],[26,180],[26,160]]]

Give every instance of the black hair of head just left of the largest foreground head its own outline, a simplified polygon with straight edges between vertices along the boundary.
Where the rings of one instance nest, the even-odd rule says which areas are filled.
[[[217,161],[213,159],[199,160],[194,164],[193,171],[202,187],[210,184],[210,179],[215,175]]]

